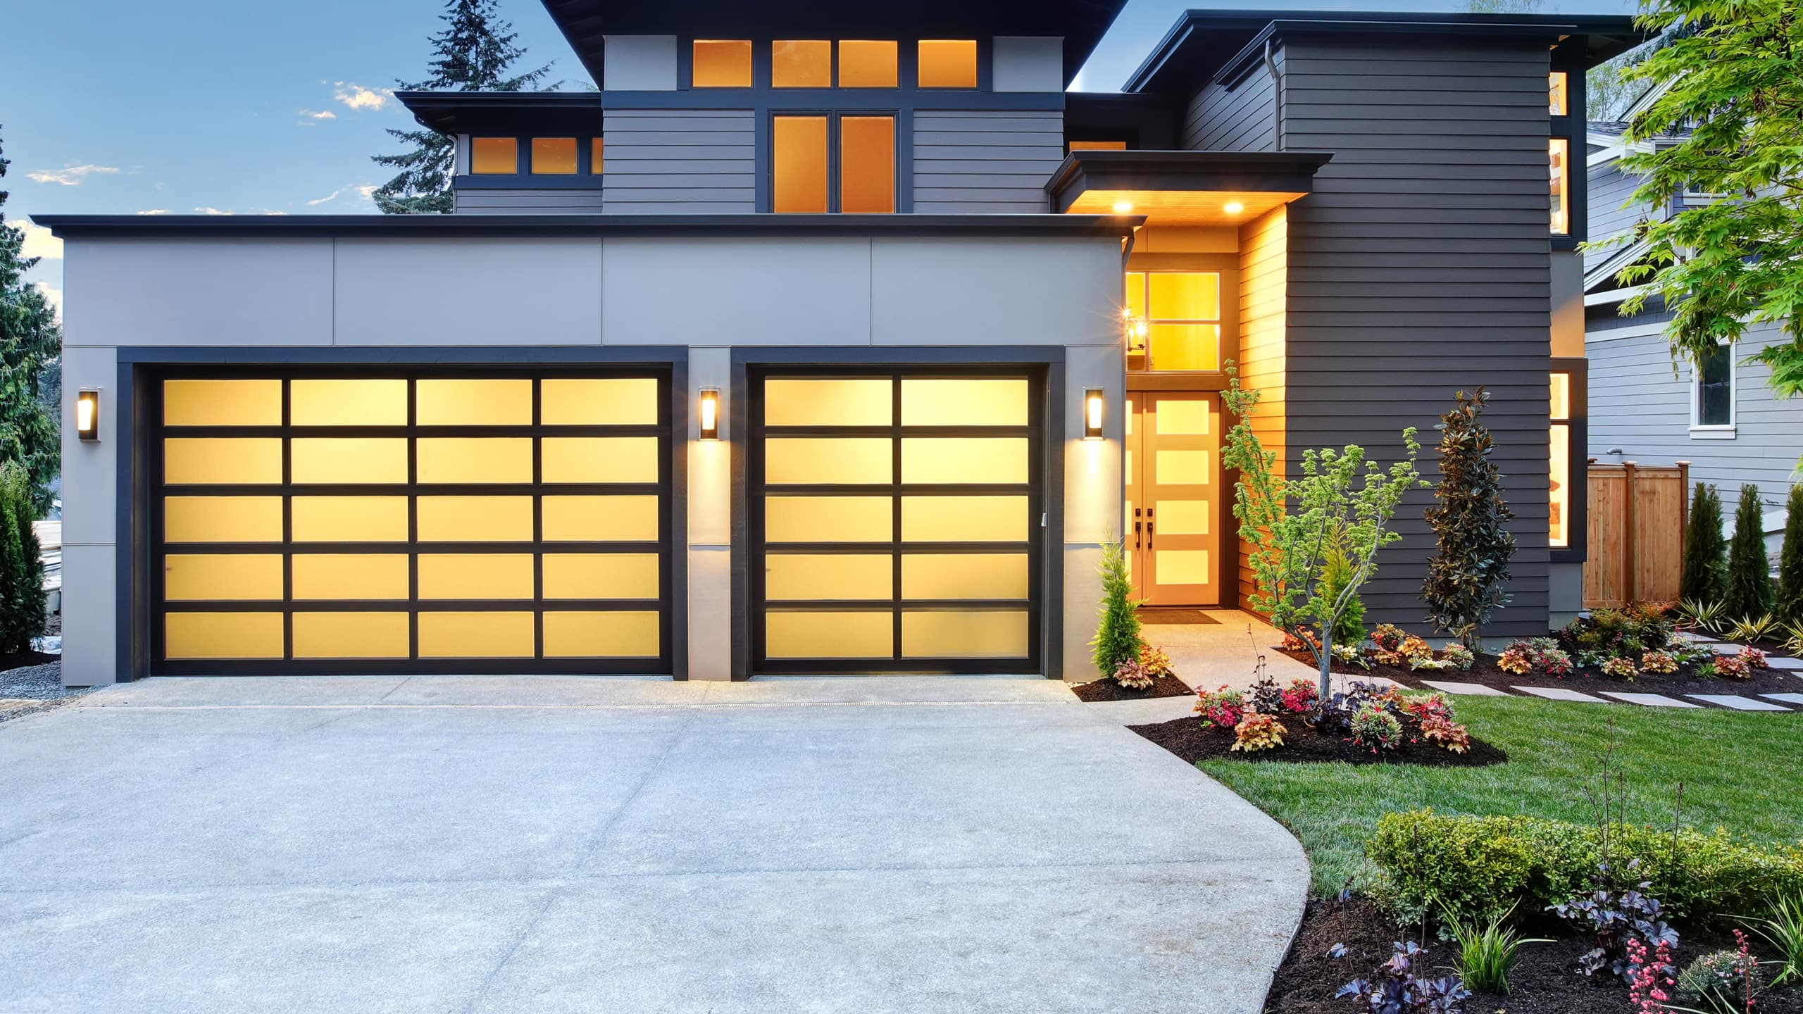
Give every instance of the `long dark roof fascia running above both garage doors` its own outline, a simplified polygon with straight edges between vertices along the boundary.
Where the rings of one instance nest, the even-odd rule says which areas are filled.
[[[58,238],[1130,236],[1136,215],[32,215]]]

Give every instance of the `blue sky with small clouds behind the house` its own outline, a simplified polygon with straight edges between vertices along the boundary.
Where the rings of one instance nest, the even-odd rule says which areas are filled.
[[[528,60],[566,88],[588,81],[537,0],[501,0]],[[1129,0],[1078,78],[1112,90],[1185,7]],[[1457,11],[1457,0],[1314,0],[1258,7]],[[1628,13],[1628,0],[1547,0]],[[373,213],[370,155],[411,126],[386,92],[424,76],[440,0],[59,0],[5,4],[0,130],[13,166],[5,218],[34,213]],[[31,278],[61,296],[59,244]]]

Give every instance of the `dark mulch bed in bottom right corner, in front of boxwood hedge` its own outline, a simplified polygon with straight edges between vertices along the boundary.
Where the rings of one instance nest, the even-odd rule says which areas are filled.
[[[1554,936],[1560,927],[1540,926],[1527,936]],[[1545,933],[1552,929],[1552,933]],[[1414,931],[1419,940],[1419,929]],[[1266,1014],[1352,1014],[1361,1010],[1356,1000],[1334,1000],[1334,992],[1356,980],[1374,978],[1377,965],[1390,960],[1392,944],[1403,936],[1372,900],[1354,897],[1345,904],[1311,900],[1302,917],[1302,929],[1289,945],[1289,956],[1271,980]],[[1340,944],[1345,954],[1329,958]],[[1754,956],[1758,956],[1754,940]],[[1632,1014],[1628,987],[1606,974],[1585,978],[1578,973],[1578,958],[1590,942],[1565,936],[1552,944],[1524,944],[1520,960],[1509,974],[1509,996],[1477,994],[1464,1003],[1469,1014]],[[1435,974],[1448,974],[1453,944],[1428,940],[1426,965]],[[1731,938],[1684,938],[1673,954],[1679,967],[1698,954],[1733,949]],[[1769,989],[1754,998],[1758,1014],[1803,1014],[1803,987]]]

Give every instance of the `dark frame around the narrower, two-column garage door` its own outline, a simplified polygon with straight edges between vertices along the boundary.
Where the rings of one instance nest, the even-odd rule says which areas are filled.
[[[1039,408],[1039,462],[1037,473],[1042,478],[1039,507],[1044,512],[1044,527],[1039,529],[1037,554],[1033,561],[1039,581],[1040,601],[1033,608],[1031,630],[1037,633],[1030,651],[1037,660],[1037,669],[1046,678],[1064,678],[1064,401],[1066,401],[1066,352],[1062,346],[1017,346],[1017,348],[945,348],[945,346],[773,346],[752,348],[736,346],[732,350],[732,399],[728,415],[728,437],[732,440],[732,678],[748,680],[757,675],[757,595],[752,583],[752,567],[757,563],[754,543],[761,543],[754,532],[757,511],[752,505],[752,442],[754,433],[752,392],[766,373],[795,370],[797,375],[820,370],[873,370],[873,372],[918,372],[923,375],[956,375],[968,370],[1011,370],[1022,372],[1035,381],[1044,397]],[[972,660],[975,662],[975,660]],[[930,664],[912,668],[892,662],[781,662],[772,669],[783,673],[891,673],[912,671],[932,673]],[[1006,668],[984,668],[984,671],[1010,671]]]

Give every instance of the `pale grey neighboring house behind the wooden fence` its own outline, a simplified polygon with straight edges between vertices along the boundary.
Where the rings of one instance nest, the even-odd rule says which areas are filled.
[[[1628,114],[1639,112],[1650,97]],[[1662,300],[1653,296],[1639,314],[1621,316],[1623,300],[1641,285],[1623,285],[1617,274],[1646,254],[1646,245],[1632,238],[1634,226],[1711,200],[1711,195],[1686,193],[1671,207],[1635,204],[1639,177],[1621,168],[1621,157],[1652,148],[1628,143],[1625,130],[1625,123],[1588,126],[1590,238],[1623,238],[1585,254],[1590,456],[1603,464],[1689,462],[1693,484],[1707,482],[1722,491],[1727,525],[1733,525],[1740,485],[1758,485],[1767,543],[1776,559],[1783,505],[1803,455],[1803,401],[1776,397],[1767,386],[1771,370],[1751,359],[1789,337],[1778,325],[1751,327],[1698,370],[1671,355],[1666,337],[1671,316]]]

